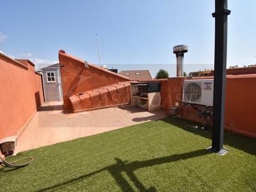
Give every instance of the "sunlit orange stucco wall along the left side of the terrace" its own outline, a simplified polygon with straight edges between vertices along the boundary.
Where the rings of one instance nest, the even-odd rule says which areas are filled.
[[[41,75],[27,60],[0,54],[0,139],[17,135],[43,103]]]

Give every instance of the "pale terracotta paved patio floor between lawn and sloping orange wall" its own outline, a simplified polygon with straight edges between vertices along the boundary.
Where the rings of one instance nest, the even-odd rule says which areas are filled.
[[[70,114],[62,112],[61,102],[45,103],[19,137],[16,153],[162,119],[165,116],[163,110],[148,112],[131,106]]]

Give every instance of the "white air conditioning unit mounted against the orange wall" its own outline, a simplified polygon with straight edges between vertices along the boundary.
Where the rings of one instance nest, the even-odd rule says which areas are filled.
[[[213,80],[184,80],[182,101],[213,106]]]

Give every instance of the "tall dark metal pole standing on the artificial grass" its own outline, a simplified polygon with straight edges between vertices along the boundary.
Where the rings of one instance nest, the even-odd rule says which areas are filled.
[[[224,106],[226,94],[227,62],[227,0],[215,0],[215,53],[214,53],[214,97],[213,97],[213,138],[212,150],[223,148]]]

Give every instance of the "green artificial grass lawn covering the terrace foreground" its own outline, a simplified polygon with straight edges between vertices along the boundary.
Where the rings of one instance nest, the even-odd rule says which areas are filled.
[[[168,117],[22,152],[0,170],[1,191],[255,191],[256,139],[226,132],[230,152],[205,150],[209,130]]]

